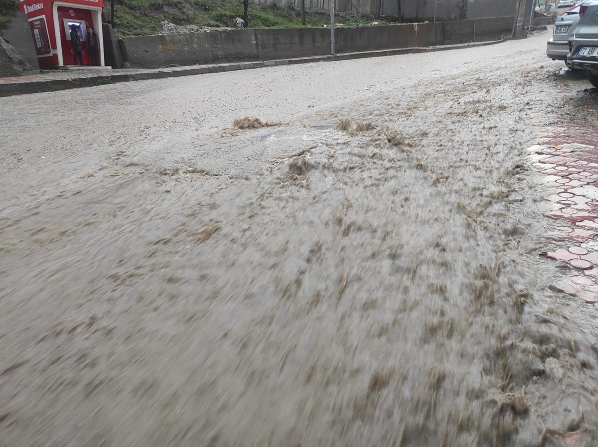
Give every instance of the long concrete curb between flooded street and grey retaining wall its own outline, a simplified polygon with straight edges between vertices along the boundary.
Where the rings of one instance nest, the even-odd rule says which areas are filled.
[[[228,71],[266,68],[270,66],[295,65],[315,62],[337,62],[340,60],[364,59],[366,57],[397,56],[400,54],[431,53],[432,51],[457,50],[460,48],[475,48],[494,45],[504,42],[499,41],[478,42],[473,44],[441,45],[426,48],[395,48],[393,50],[362,51],[360,53],[329,54],[328,56],[297,57],[294,59],[264,60],[261,62],[239,62],[215,65],[202,65],[197,67],[184,67],[181,69],[156,69],[127,74],[102,74],[97,76],[72,76],[66,79],[48,79],[47,81],[0,82],[0,97],[14,96],[17,94],[42,93],[45,91],[68,90],[70,88],[96,87],[98,85],[115,84],[116,82],[144,81],[148,79],[164,79],[178,76],[194,76],[208,73],[222,73]]]

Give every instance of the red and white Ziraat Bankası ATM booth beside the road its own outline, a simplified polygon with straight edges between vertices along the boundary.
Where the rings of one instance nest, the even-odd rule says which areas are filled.
[[[21,0],[20,10],[27,14],[40,68],[74,65],[71,25],[77,25],[83,65],[91,65],[87,51],[87,29],[99,39],[99,65],[104,65],[102,32],[103,0]]]

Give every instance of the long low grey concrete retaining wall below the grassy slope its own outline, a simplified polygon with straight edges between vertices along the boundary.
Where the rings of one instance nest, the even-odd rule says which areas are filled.
[[[511,32],[514,17],[409,23],[335,29],[337,52],[499,39]],[[329,29],[240,29],[162,36],[126,37],[123,43],[132,66],[158,68],[218,62],[322,56],[330,52]]]

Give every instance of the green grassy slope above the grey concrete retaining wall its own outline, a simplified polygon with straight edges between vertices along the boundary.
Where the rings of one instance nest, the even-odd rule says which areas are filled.
[[[175,25],[197,25],[231,27],[236,17],[243,17],[243,3],[218,0],[117,0],[115,4],[115,30],[121,36],[143,36],[155,34],[162,20]],[[109,19],[110,3],[105,0],[104,13]],[[249,27],[251,28],[301,28],[301,12],[295,8],[279,5],[249,5]],[[339,14],[338,25],[363,26],[373,22],[371,17]],[[376,20],[380,25],[385,24]],[[329,15],[306,11],[305,27],[322,27],[329,23]]]

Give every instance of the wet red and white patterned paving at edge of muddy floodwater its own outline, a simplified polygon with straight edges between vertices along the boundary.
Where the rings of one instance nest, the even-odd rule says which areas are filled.
[[[556,286],[598,308],[598,127],[570,126],[536,135],[539,143],[527,151],[553,188],[547,199],[554,209],[545,216],[559,221],[546,237],[571,244],[546,253],[571,268]]]

